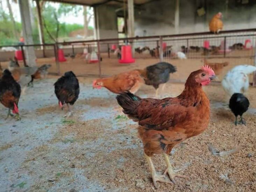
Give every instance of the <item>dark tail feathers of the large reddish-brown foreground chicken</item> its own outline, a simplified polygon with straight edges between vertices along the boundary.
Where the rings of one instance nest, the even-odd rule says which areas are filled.
[[[123,108],[123,113],[133,116],[136,113],[136,107],[141,98],[130,92],[125,92],[117,95],[116,100]]]

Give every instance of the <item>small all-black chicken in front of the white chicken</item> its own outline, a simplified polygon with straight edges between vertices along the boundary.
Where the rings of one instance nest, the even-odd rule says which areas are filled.
[[[240,115],[239,123],[246,125],[246,122],[243,120],[242,115],[248,110],[250,105],[249,100],[242,93],[234,93],[229,100],[229,108],[234,113],[236,120],[235,125],[237,125],[237,116]]]

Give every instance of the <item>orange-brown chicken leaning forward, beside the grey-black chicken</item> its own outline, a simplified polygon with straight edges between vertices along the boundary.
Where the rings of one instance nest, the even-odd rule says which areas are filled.
[[[119,94],[125,91],[136,93],[143,83],[144,80],[140,76],[139,70],[133,70],[112,77],[96,79],[92,86],[97,89],[105,87],[112,93]]]

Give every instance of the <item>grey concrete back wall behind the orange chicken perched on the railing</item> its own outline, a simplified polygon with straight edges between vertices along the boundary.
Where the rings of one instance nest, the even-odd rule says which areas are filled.
[[[236,0],[180,0],[179,33],[208,31],[208,23],[218,12],[223,14],[224,30],[256,28],[256,1],[238,5]],[[205,4],[204,4],[205,3]],[[197,9],[205,7],[206,15],[199,17]],[[135,35],[174,34],[175,0],[158,0],[135,9]]]

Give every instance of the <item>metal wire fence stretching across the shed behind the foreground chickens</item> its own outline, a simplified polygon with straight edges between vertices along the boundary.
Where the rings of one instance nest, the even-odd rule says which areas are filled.
[[[50,58],[55,62],[54,73],[61,74],[66,70],[74,70],[75,65],[81,65],[77,73],[80,76],[109,76],[118,72],[119,59],[122,58],[122,46],[130,45],[135,67],[152,64],[157,61],[181,63],[186,68],[194,62],[204,64],[225,63],[230,66],[238,64],[256,65],[256,29],[221,31],[215,35],[208,32],[193,34],[178,34],[165,36],[119,38],[91,41],[62,42],[55,44],[0,46],[15,47],[22,51],[23,63],[26,65],[24,50],[34,47],[38,61],[40,58]],[[43,49],[42,49],[43,48]],[[62,50],[67,62],[59,58]],[[0,52],[1,55],[1,52]],[[54,58],[52,58],[54,57]],[[4,59],[1,56],[1,61]],[[186,62],[184,62],[186,59]],[[40,62],[39,62],[40,63]],[[67,63],[67,65],[65,64]],[[185,63],[185,64],[183,64]],[[86,65],[92,64],[92,65]],[[98,64],[98,65],[97,65]],[[127,65],[123,70],[132,69]],[[256,75],[251,78],[256,85]]]

